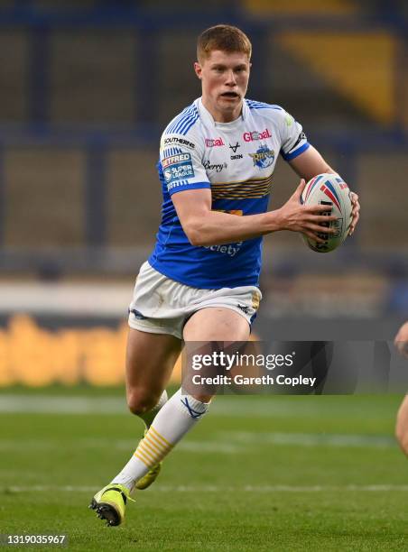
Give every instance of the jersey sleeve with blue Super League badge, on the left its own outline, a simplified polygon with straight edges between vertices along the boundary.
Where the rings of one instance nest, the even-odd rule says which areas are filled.
[[[211,188],[201,161],[202,147],[193,134],[162,135],[160,164],[163,180],[171,196],[186,189]]]

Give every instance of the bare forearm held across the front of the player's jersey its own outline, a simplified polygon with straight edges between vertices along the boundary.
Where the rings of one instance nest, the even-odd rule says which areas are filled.
[[[243,242],[281,229],[279,210],[247,216],[209,211],[184,227],[190,243],[200,246]]]

